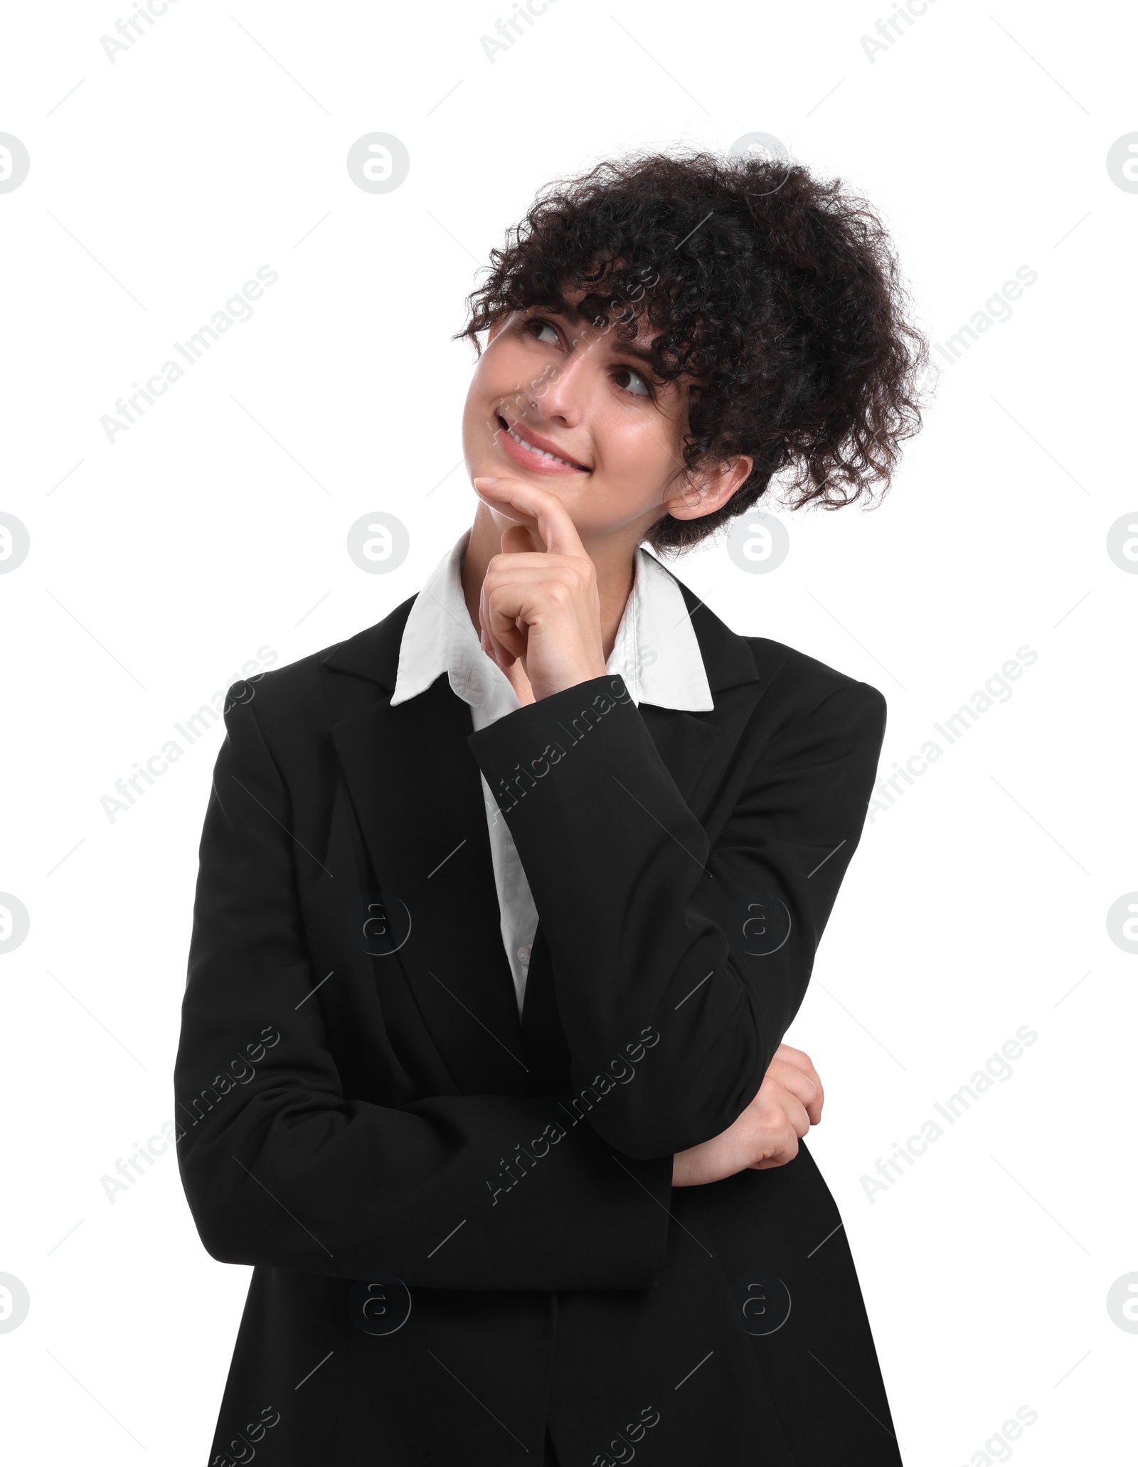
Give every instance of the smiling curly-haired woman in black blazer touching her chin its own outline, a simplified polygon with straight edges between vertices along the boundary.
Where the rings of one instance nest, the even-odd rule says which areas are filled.
[[[214,1467],[900,1461],[782,1043],[884,698],[644,546],[887,486],[903,304],[804,167],[551,186],[471,298],[471,530],[230,689],[175,1077],[254,1266]]]

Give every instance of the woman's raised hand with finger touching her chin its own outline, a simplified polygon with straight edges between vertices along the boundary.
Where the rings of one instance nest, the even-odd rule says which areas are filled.
[[[475,478],[478,496],[502,513],[537,521],[538,550],[525,525],[510,525],[478,596],[482,650],[506,672],[521,662],[535,698],[603,678],[597,568],[556,494],[518,478]]]

